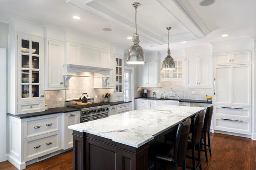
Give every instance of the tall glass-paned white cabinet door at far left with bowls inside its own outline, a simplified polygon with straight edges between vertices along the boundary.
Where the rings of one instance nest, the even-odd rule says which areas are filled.
[[[43,42],[18,35],[18,101],[44,99]]]

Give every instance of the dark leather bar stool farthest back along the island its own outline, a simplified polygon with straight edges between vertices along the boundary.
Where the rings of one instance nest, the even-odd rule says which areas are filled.
[[[201,151],[204,151],[206,162],[208,162],[207,152],[210,152],[210,156],[212,156],[211,152],[211,145],[210,145],[210,127],[211,127],[211,121],[212,121],[212,114],[213,114],[213,106],[207,107],[205,116],[204,116],[204,126],[202,128],[202,139],[201,139],[201,148],[204,146],[204,149],[202,148]],[[208,144],[206,144],[206,133],[208,136]],[[207,148],[208,147],[208,148]]]

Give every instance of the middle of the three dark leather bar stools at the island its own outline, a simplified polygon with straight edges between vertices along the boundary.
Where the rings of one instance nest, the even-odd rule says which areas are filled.
[[[201,134],[202,134],[202,125],[204,122],[204,111],[201,111],[200,113],[196,114],[192,126],[191,132],[188,134],[188,149],[192,149],[192,157],[186,156],[187,158],[192,159],[193,167],[186,166],[186,168],[196,170],[198,167],[200,170],[202,170],[201,165],[201,156],[200,156],[200,140],[201,140]],[[197,156],[196,159],[195,152],[197,150]],[[196,160],[198,161],[198,164],[196,164]]]

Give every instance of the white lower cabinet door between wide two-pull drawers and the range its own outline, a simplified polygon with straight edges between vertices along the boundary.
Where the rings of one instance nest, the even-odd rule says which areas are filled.
[[[80,123],[80,111],[62,113],[62,149],[73,147],[73,131],[68,126],[78,123]]]

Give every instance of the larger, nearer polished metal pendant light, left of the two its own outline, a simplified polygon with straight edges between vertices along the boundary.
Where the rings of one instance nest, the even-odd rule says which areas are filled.
[[[133,2],[132,6],[135,8],[135,28],[136,33],[133,34],[132,41],[134,42],[134,45],[130,47],[128,53],[127,53],[127,64],[144,64],[146,61],[144,61],[144,51],[142,47],[139,45],[139,35],[137,34],[137,8],[140,6],[139,2]]]

